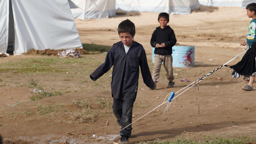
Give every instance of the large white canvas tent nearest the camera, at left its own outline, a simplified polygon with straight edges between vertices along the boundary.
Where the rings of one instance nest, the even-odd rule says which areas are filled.
[[[68,0],[0,0],[0,53],[82,48]]]

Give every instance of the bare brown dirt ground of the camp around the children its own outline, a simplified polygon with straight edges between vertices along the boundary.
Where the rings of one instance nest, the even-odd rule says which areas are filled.
[[[148,64],[152,70],[152,48],[149,43],[152,32],[159,26],[157,16],[158,13],[128,13],[128,15],[114,18],[75,20],[75,23],[82,43],[113,45],[120,40],[116,32],[118,24],[122,20],[130,19],[136,26],[135,41],[144,46]],[[255,91],[242,90],[242,86],[246,86],[247,82],[242,77],[232,78],[232,69],[222,67],[206,77],[199,83],[199,91],[197,87],[196,91],[194,87],[184,93],[181,92],[185,89],[180,91],[244,52],[245,47],[240,46],[240,42],[246,40],[250,20],[246,10],[238,7],[201,7],[190,15],[170,15],[169,25],[175,31],[177,43],[195,46],[195,67],[174,68],[174,88],[166,88],[168,82],[163,67],[155,91],[146,87],[140,77],[135,102],[139,106],[133,109],[135,122],[132,124],[130,143],[152,141],[157,138],[161,140],[187,138],[204,141],[211,137],[231,139],[245,137],[250,139],[251,143],[255,143]],[[242,56],[243,54],[228,65],[236,64]],[[0,63],[34,57],[45,56],[7,56],[1,57]],[[82,56],[82,58],[86,57],[94,57],[102,62],[105,59],[100,54]],[[98,63],[92,63],[85,65],[83,69],[89,69],[89,67],[95,69],[98,66]],[[67,104],[72,100],[84,98],[91,100],[92,96],[111,101],[111,80],[104,80],[109,79],[105,76],[99,79],[98,83],[101,84],[96,85],[96,82],[90,80],[91,72],[93,72],[92,69],[82,72],[85,83],[78,83],[76,79],[64,81],[63,75],[59,77],[41,75],[40,80],[44,85],[51,85],[52,79],[56,79],[54,85],[59,91],[62,91],[63,87],[85,88],[86,91],[75,91],[72,94],[44,98],[35,102],[28,102],[33,88],[19,87],[14,83],[14,81],[28,83],[22,74],[0,73],[0,106],[2,107],[0,134],[4,143],[99,144],[110,136],[113,137],[103,143],[118,142],[120,126],[116,123],[113,113],[99,118],[94,124],[76,125],[67,123],[69,118],[65,113],[40,116],[35,112],[38,104]],[[191,82],[181,82],[183,78]],[[167,113],[164,114],[167,103],[161,104],[166,101],[166,95],[172,91],[177,92],[175,95],[177,97],[173,99]],[[25,103],[13,106],[19,102]],[[96,103],[90,104],[94,109],[102,109]],[[157,107],[158,105],[161,106]],[[66,105],[66,108],[78,112],[82,110],[74,104]],[[10,115],[10,113],[24,111],[32,112],[33,115]],[[96,134],[97,138],[93,138],[93,134]]]

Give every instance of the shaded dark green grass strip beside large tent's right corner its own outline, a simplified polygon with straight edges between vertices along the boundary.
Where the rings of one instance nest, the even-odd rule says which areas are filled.
[[[107,45],[95,45],[95,44],[83,44],[83,49],[91,52],[108,52],[112,46]]]

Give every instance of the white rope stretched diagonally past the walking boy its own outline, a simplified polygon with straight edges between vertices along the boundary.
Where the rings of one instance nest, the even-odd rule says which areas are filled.
[[[245,50],[244,52],[246,52],[246,50]],[[242,53],[240,53],[239,55],[237,55],[236,57],[232,58],[230,61],[233,61],[233,60],[236,59],[238,56],[242,55],[244,52],[242,52]],[[193,83],[187,85],[186,87],[182,88],[181,90],[177,91],[176,93],[178,93],[178,92],[184,90],[185,88],[187,88],[187,87],[189,87],[189,86],[190,86],[189,88],[191,88],[192,86],[195,86],[195,84],[199,83],[200,81],[202,81],[203,79],[205,79],[206,77],[208,77],[209,75],[211,75],[213,72],[217,71],[218,69],[222,68],[222,67],[225,66],[226,64],[230,63],[230,61],[228,61],[228,62],[226,62],[225,64],[221,65],[221,66],[218,67],[217,69],[214,69],[213,71],[211,71],[211,72],[209,72],[207,75],[204,75],[203,77],[199,78],[199,79],[196,80],[195,82],[193,82]],[[177,96],[173,97],[173,99],[175,99],[175,98],[178,97],[179,95],[183,94],[183,93],[184,93],[185,91],[187,91],[189,88],[187,88],[186,90],[182,91],[182,92],[181,92],[180,94],[178,94]],[[171,93],[172,93],[172,92],[170,92],[169,94],[167,94],[166,97],[165,97],[165,99],[167,98],[167,96],[170,96]],[[165,99],[164,99],[164,102],[163,102],[162,104],[158,105],[158,106],[155,107],[153,110],[151,110],[151,111],[149,111],[148,113],[146,113],[145,115],[151,113],[152,111],[154,111],[155,109],[157,109],[157,108],[160,107],[161,105],[163,105],[163,104],[165,104],[166,102],[168,102],[168,100],[165,101]],[[173,100],[173,99],[171,99],[171,100]],[[170,103],[171,103],[171,102],[170,102]],[[167,112],[169,106],[170,106],[170,104],[167,104],[167,107],[166,107],[165,110],[164,110],[164,114],[165,114],[165,112]],[[198,112],[199,112],[199,110],[198,110]],[[143,118],[145,115],[141,116],[140,118]],[[138,118],[137,120],[135,120],[135,121],[132,122],[131,124],[135,123],[135,122],[138,121],[140,118]],[[130,126],[131,124],[129,124],[128,126]],[[128,126],[124,127],[123,129],[127,128]],[[123,130],[123,129],[121,129],[121,130]],[[121,130],[120,130],[120,131],[121,131]],[[120,132],[120,131],[118,131],[118,132]],[[118,132],[116,132],[115,134],[117,134]],[[113,135],[110,136],[110,137],[113,137],[115,134],[113,134]],[[102,144],[103,142],[105,142],[106,140],[108,140],[110,137],[108,137],[107,139],[105,139],[104,141],[102,141],[102,142],[99,143],[99,144]]]

